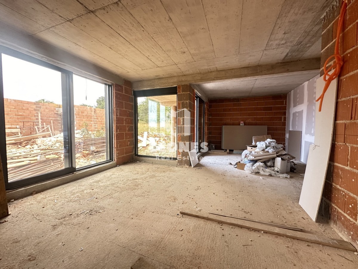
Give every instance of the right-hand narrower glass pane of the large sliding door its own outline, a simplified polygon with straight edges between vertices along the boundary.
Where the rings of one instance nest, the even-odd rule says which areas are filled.
[[[76,168],[108,160],[107,85],[73,75]]]

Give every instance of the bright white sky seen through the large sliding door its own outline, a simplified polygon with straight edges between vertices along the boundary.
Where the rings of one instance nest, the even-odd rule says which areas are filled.
[[[4,98],[32,102],[46,99],[62,104],[61,72],[4,54],[2,60]],[[73,75],[75,105],[96,105],[97,98],[104,95],[104,84]]]

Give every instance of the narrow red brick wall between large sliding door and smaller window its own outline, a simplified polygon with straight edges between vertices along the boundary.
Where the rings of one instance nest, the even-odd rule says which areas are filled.
[[[132,84],[113,84],[114,153],[117,165],[133,160],[134,113]]]

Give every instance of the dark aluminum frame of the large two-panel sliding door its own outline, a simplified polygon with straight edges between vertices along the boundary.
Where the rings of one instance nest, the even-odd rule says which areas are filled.
[[[9,55],[20,60],[34,63],[39,66],[46,67],[58,72],[61,72],[62,78],[62,107],[63,107],[63,133],[64,133],[64,148],[68,148],[67,154],[64,154],[64,161],[66,168],[58,171],[31,176],[9,182],[8,180],[8,167],[7,167],[7,151],[6,151],[6,131],[5,131],[5,113],[4,113],[4,85],[3,85],[3,61],[2,54]],[[21,74],[19,74],[21,75]],[[89,78],[88,78],[89,79]],[[103,83],[103,82],[101,82]],[[103,83],[104,84],[104,83]],[[0,155],[3,165],[3,174],[5,179],[6,190],[17,189],[25,187],[30,184],[51,180],[60,176],[69,175],[77,171],[86,170],[98,165],[106,164],[113,161],[113,100],[112,100],[112,86],[105,84],[107,87],[105,100],[106,106],[106,148],[109,160],[98,162],[97,164],[88,165],[76,169],[75,166],[75,143],[74,143],[74,106],[73,106],[73,72],[53,65],[24,53],[15,51],[14,49],[0,45]],[[67,134],[67,136],[65,135]],[[108,135],[107,135],[108,134]],[[65,138],[66,137],[66,138]],[[67,139],[67,141],[66,141]]]

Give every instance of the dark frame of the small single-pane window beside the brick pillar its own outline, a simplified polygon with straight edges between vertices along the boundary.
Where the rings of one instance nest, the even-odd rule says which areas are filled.
[[[176,95],[178,102],[178,88],[177,87],[169,87],[169,88],[158,88],[158,89],[150,89],[150,90],[134,90],[134,152],[135,156],[145,157],[145,158],[156,158],[156,156],[150,155],[139,155],[138,154],[138,97],[150,97],[150,96],[159,96],[159,95]],[[178,104],[178,103],[177,103]],[[175,129],[178,130],[178,119],[176,120]],[[178,132],[176,132],[176,137],[178,137]],[[160,156],[159,158],[170,158],[170,160],[178,160],[178,152],[176,152],[176,157],[169,156]]]

